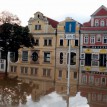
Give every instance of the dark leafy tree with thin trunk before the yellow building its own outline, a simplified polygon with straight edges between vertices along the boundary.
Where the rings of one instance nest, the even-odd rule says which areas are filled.
[[[21,46],[33,47],[34,38],[28,27],[4,23],[0,26],[0,47],[6,60],[5,77],[7,77],[8,52],[17,52]]]

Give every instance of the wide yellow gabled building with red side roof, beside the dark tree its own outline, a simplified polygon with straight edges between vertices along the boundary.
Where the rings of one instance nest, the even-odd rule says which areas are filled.
[[[10,63],[9,76],[16,75],[26,82],[35,81],[36,85],[54,87],[57,24],[57,21],[44,16],[41,12],[36,12],[34,17],[29,19],[28,27],[35,39],[35,46],[19,49],[18,61]],[[38,87],[42,90],[42,86]]]

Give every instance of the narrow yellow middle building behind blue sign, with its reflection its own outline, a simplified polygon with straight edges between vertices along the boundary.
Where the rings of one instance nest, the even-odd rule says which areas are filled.
[[[57,27],[55,89],[60,93],[66,93],[67,91],[69,41],[65,39],[65,23],[72,21],[75,20],[68,17],[64,21],[59,22]],[[79,27],[80,23],[76,21],[75,40],[71,40],[70,94],[72,95],[75,95],[77,92],[78,83]]]

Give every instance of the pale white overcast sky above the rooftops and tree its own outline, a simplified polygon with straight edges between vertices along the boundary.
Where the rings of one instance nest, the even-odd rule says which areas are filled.
[[[101,5],[107,7],[107,0],[0,0],[0,12],[17,15],[23,26],[37,11],[57,21],[72,17],[83,23],[89,21]]]

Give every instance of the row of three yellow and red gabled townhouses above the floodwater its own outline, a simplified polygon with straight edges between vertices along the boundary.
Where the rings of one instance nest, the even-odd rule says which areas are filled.
[[[58,22],[36,12],[28,21],[35,45],[19,49],[17,62],[10,58],[9,76],[34,81],[38,91],[45,86],[47,90],[55,87],[57,92],[66,92],[69,55],[66,22],[76,22],[75,39],[70,41],[70,93],[77,92],[78,84],[80,89],[85,85],[107,86],[107,8],[103,5],[83,25],[69,17]]]

